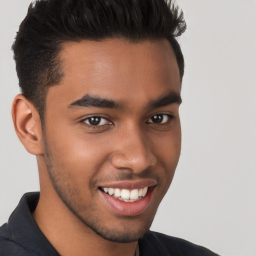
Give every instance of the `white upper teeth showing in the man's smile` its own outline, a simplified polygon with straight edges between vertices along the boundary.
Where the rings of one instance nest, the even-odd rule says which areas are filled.
[[[114,195],[114,197],[120,197],[124,200],[136,200],[141,196],[145,196],[147,192],[147,186],[140,189],[120,189],[120,188],[111,188],[111,187],[102,187],[105,193]],[[119,199],[119,198],[118,198]]]

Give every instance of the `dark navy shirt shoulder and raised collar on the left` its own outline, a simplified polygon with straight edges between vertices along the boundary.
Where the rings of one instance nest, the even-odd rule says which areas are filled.
[[[59,255],[33,219],[38,198],[38,192],[25,193],[0,227],[0,256]]]

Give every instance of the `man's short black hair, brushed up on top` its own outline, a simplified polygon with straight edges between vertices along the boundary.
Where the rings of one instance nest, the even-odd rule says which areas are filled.
[[[41,122],[49,86],[63,76],[59,53],[66,41],[124,38],[131,42],[166,38],[175,53],[180,83],[184,59],[176,37],[186,28],[172,0],[36,0],[12,44],[21,93]]]

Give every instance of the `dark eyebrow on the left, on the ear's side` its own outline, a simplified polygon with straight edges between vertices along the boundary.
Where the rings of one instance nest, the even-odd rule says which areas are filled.
[[[102,98],[97,95],[85,94],[81,98],[73,101],[68,107],[100,107],[100,108],[122,108],[122,104],[112,99]]]

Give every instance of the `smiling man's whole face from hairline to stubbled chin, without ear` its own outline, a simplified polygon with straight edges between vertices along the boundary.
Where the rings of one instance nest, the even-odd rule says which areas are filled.
[[[167,40],[84,40],[66,43],[61,59],[64,77],[46,96],[51,184],[85,229],[112,241],[137,240],[180,153],[174,53]]]

